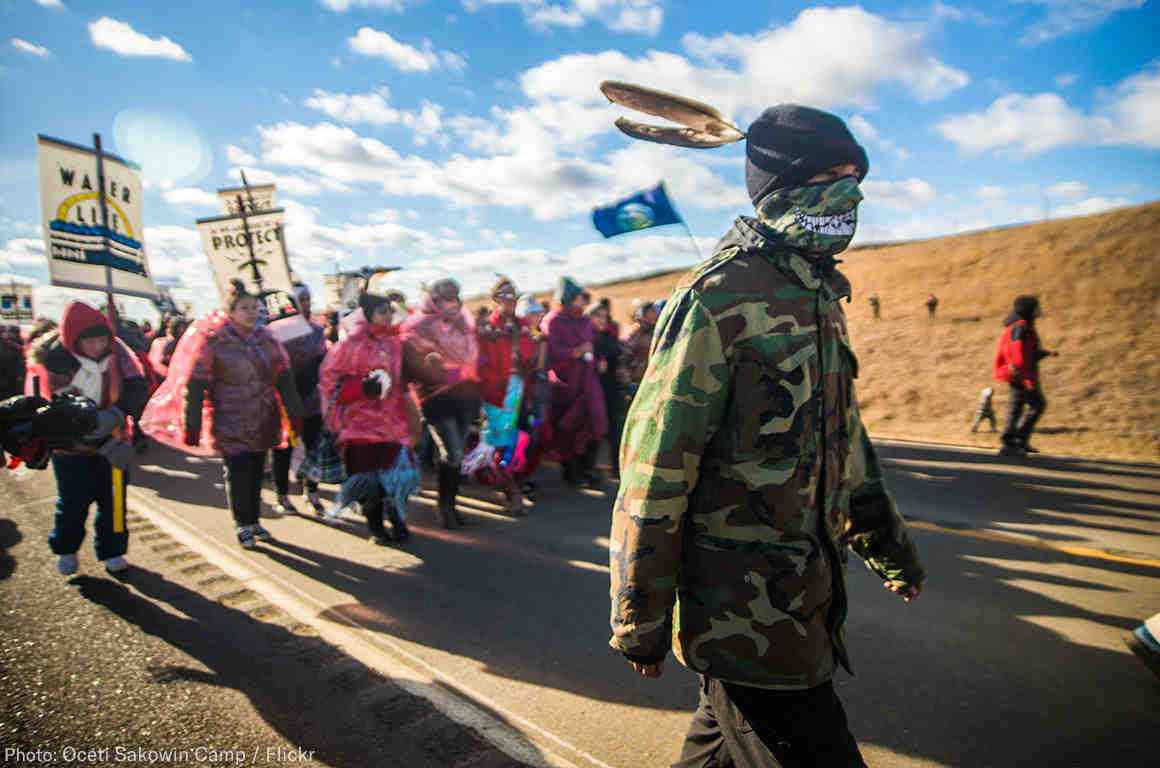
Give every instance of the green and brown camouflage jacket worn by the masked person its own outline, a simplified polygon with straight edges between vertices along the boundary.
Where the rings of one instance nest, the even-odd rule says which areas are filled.
[[[612,647],[762,688],[849,668],[846,548],[922,566],[854,398],[849,283],[738,219],[666,304],[612,512]],[[674,607],[675,604],[675,607]]]

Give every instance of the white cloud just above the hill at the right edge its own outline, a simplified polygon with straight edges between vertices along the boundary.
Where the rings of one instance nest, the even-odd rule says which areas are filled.
[[[1013,150],[1036,154],[1060,146],[1160,147],[1160,61],[1097,94],[1090,114],[1053,93],[1008,94],[979,113],[951,115],[936,126],[967,153]]]

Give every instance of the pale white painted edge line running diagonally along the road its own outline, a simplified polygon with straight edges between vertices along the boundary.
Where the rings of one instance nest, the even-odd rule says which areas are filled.
[[[595,755],[573,746],[551,731],[513,712],[490,696],[441,672],[391,638],[363,626],[356,620],[349,616],[341,616],[341,621],[321,618],[320,615],[329,606],[305,593],[302,588],[285,581],[277,573],[258,561],[248,557],[242,558],[233,548],[227,548],[210,536],[202,534],[193,523],[165,507],[157,499],[146,497],[142,491],[132,486],[129,488],[129,495],[138,501],[138,505],[135,506],[136,512],[140,512],[150,517],[154,524],[165,529],[171,536],[190,549],[196,550],[206,560],[229,572],[271,603],[283,608],[296,620],[314,626],[327,640],[342,646],[350,655],[367,666],[378,669],[407,693],[426,698],[452,720],[478,731],[509,756],[543,768],[577,768],[575,763],[570,762],[558,754],[545,751],[543,746],[534,745],[529,741],[528,734],[491,717],[459,696],[443,691],[440,687],[432,686],[427,681],[415,680],[416,669],[414,667],[419,667],[420,671],[426,672],[432,679],[447,683],[464,696],[478,701],[483,707],[498,712],[507,720],[519,724],[521,729],[539,737],[539,740],[563,747],[565,751],[582,758],[597,768],[612,768],[612,766]],[[343,624],[347,625],[345,626]],[[357,633],[353,630],[357,630]],[[383,646],[385,646],[389,653],[406,659],[413,666],[390,659],[389,654],[383,652]]]

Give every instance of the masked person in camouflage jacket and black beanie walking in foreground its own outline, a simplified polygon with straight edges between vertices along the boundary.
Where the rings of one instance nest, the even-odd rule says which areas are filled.
[[[676,287],[626,421],[610,643],[645,676],[670,647],[701,673],[679,766],[862,766],[831,684],[847,546],[907,601],[925,577],[858,415],[833,260],[868,162],[792,104],[747,144],[757,216]]]

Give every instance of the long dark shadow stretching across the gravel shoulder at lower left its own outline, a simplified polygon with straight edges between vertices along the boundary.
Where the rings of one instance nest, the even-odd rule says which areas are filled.
[[[155,682],[238,690],[287,744],[316,751],[320,763],[522,765],[318,637],[258,621],[144,568],[131,568],[122,581],[77,577],[72,584],[87,600],[208,669],[154,667],[148,672]]]

